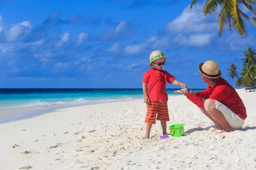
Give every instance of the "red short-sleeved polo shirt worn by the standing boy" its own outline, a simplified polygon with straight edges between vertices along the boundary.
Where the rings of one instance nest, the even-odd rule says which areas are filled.
[[[148,98],[154,101],[167,102],[166,82],[170,84],[175,79],[167,71],[151,68],[145,72],[142,82],[148,83]]]

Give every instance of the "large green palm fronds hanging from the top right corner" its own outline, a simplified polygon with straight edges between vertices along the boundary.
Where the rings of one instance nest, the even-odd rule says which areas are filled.
[[[192,1],[192,3],[190,4],[190,10],[198,1],[200,2],[201,0]],[[244,36],[246,34],[246,30],[244,20],[241,18],[241,16],[249,20],[250,23],[252,23],[254,26],[256,26],[256,22],[252,18],[244,14],[243,11],[241,11],[241,5],[244,5],[253,14],[256,15],[256,9],[253,8],[253,6],[256,6],[255,0],[206,0],[203,12],[205,17],[207,17],[208,14],[216,12],[218,8],[221,8],[221,12],[219,14],[218,30],[220,37],[224,26],[227,24],[230,31],[232,31],[231,26],[235,26],[235,30],[237,30],[240,35]],[[232,25],[231,20],[233,20]]]

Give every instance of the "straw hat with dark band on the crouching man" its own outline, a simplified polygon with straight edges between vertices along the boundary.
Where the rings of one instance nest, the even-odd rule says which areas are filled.
[[[205,77],[216,79],[221,77],[221,71],[218,68],[218,64],[215,61],[209,60],[198,65],[199,71]]]

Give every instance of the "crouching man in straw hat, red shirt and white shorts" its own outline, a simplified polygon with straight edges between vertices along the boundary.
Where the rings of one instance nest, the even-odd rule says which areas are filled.
[[[212,60],[199,64],[200,76],[207,83],[204,91],[175,91],[184,94],[215,124],[215,132],[231,132],[244,124],[246,108],[236,90],[221,77],[218,64]]]

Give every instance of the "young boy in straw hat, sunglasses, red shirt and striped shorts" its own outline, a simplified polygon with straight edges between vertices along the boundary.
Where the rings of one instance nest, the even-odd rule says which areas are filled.
[[[155,124],[156,119],[161,121],[163,135],[167,134],[166,122],[170,121],[170,119],[167,106],[168,94],[166,93],[166,82],[180,85],[182,89],[186,88],[184,83],[175,80],[175,77],[167,71],[163,71],[166,59],[162,51],[153,51],[149,56],[150,63],[148,65],[150,67],[153,66],[153,68],[146,71],[142,79],[144,102],[147,104],[145,139],[149,139],[152,124]]]

